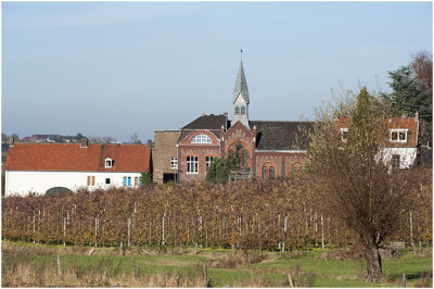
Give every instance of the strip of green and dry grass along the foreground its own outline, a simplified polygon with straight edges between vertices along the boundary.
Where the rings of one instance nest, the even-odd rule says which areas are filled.
[[[2,242],[3,287],[432,287],[432,250],[383,262],[385,282],[367,284],[365,263],[339,251],[120,250]],[[59,253],[59,265],[58,265]],[[205,269],[206,267],[206,269]],[[205,272],[206,271],[206,282]]]

